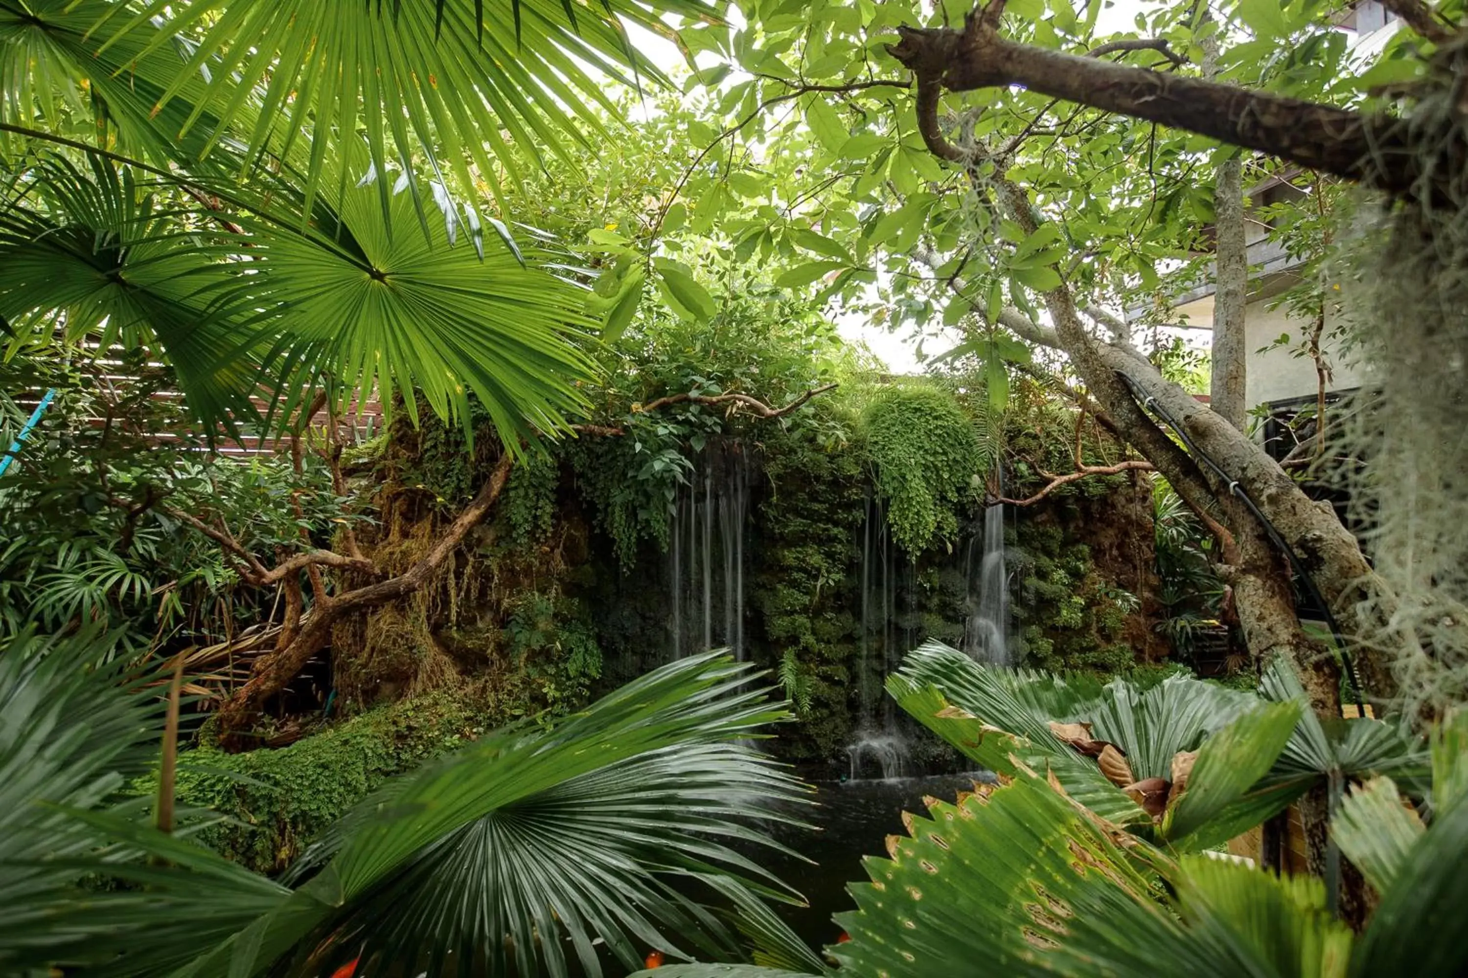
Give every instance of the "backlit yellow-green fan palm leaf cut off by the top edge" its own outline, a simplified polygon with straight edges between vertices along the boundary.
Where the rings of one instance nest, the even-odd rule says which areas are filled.
[[[311,0],[154,0],[131,13],[97,0],[82,6],[100,21],[103,54],[153,18],[163,28],[144,54],[175,37],[195,43],[159,104],[207,69],[207,97],[195,104],[213,106],[226,126],[248,110],[247,158],[267,148],[289,155],[308,135],[311,191],[363,130],[379,173],[389,161],[411,173],[426,154],[429,169],[452,174],[467,195],[498,189],[499,173],[517,179],[511,145],[530,158],[537,145],[561,152],[575,122],[599,126],[592,106],[615,114],[603,88],[622,65],[659,78],[633,51],[624,22],[666,34],[666,13],[712,16],[702,0],[364,0],[349,16]],[[192,128],[185,119],[179,136]]]

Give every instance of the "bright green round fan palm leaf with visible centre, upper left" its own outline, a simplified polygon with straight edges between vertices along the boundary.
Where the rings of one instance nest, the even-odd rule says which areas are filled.
[[[442,223],[413,233],[413,207],[395,194],[385,218],[374,188],[358,186],[330,236],[244,218],[250,235],[236,251],[248,261],[232,265],[223,295],[267,312],[238,355],[255,358],[269,343],[264,374],[291,364],[297,389],[333,374],[364,397],[396,390],[410,412],[420,391],[445,418],[473,391],[512,450],[536,431],[565,431],[583,403],[574,381],[593,371],[571,343],[595,327],[583,290],[504,246],[483,258],[454,248]]]

